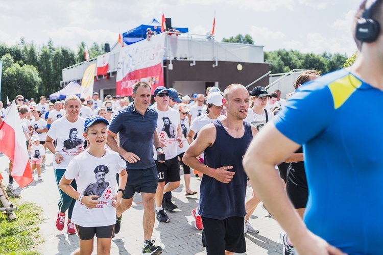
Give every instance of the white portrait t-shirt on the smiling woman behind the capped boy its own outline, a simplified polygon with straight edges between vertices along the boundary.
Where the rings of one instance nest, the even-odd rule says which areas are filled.
[[[76,122],[69,122],[63,117],[52,123],[47,135],[57,140],[56,151],[63,157],[60,164],[53,161],[53,168],[66,169],[69,161],[84,150],[84,124],[85,119],[80,116]]]

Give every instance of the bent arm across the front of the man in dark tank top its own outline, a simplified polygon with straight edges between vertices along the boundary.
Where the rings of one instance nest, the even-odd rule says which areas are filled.
[[[199,172],[207,174],[222,183],[229,183],[233,179],[235,172],[227,171],[233,166],[222,166],[220,168],[211,168],[204,165],[197,159],[198,156],[216,140],[217,130],[214,124],[204,126],[198,133],[197,139],[187,148],[182,161],[189,167]]]

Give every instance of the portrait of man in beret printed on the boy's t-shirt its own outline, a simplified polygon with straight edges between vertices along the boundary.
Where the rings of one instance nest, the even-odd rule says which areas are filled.
[[[111,187],[109,187],[109,181],[105,180],[105,175],[109,172],[109,169],[105,165],[97,166],[94,171],[95,183],[91,183],[86,187],[84,191],[85,196],[97,195],[101,197],[105,190],[104,199],[108,200],[111,194]]]

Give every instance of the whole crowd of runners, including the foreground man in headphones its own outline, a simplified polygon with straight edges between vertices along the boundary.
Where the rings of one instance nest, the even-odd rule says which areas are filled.
[[[144,209],[142,253],[161,254],[153,227],[156,219],[172,224],[166,212],[180,206],[172,201],[180,170],[186,196],[197,194],[190,182],[200,182],[191,213],[207,254],[246,252],[244,234],[259,233],[250,216],[260,201],[286,231],[284,254],[379,254],[383,121],[371,109],[383,99],[382,6],[364,1],[356,13],[359,53],[350,69],[324,77],[303,72],[286,99],[259,86],[182,95],[146,82],[133,85],[131,98],[104,101],[97,92],[86,102],[70,95],[54,104],[17,95],[38,180],[46,148],[54,155],[56,227],[63,230],[67,218],[67,233],[78,233],[73,254],[90,254],[94,235],[98,254],[108,254],[111,239],[128,227],[123,215],[135,193]],[[360,107],[363,99],[373,108]],[[1,102],[0,111],[1,120],[7,115]],[[364,125],[355,124],[357,116]]]

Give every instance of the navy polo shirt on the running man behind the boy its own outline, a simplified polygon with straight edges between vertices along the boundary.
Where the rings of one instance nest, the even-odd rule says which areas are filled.
[[[118,111],[109,130],[119,133],[119,146],[133,152],[140,160],[126,162],[127,169],[147,169],[155,166],[153,159],[153,135],[157,126],[158,113],[148,108],[144,115],[136,112],[134,102]]]

